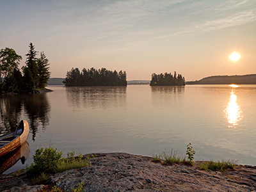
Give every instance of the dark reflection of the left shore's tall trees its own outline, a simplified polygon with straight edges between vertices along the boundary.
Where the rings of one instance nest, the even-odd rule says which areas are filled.
[[[38,127],[49,125],[50,104],[45,93],[3,95],[0,97],[0,134],[15,131],[20,120],[27,120],[35,141]]]

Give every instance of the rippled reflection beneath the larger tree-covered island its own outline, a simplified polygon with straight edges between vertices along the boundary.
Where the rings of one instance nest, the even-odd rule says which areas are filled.
[[[79,108],[116,108],[126,105],[126,86],[122,87],[68,87],[68,103]]]

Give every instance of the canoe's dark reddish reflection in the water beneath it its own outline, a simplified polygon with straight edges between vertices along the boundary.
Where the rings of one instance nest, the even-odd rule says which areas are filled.
[[[0,157],[0,174],[11,168],[20,159],[21,163],[24,164],[29,156],[29,145],[26,141],[19,147],[15,148],[12,152]]]

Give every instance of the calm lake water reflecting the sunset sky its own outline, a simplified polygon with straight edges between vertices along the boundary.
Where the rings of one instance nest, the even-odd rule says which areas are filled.
[[[49,87],[54,92],[0,97],[0,131],[21,120],[30,126],[30,154],[13,172],[32,163],[36,148],[63,154],[127,152],[151,156],[164,149],[196,160],[236,159],[256,165],[256,86],[130,85]]]

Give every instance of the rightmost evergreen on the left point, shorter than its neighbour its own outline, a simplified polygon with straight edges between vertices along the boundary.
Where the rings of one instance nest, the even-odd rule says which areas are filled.
[[[45,57],[44,52],[40,52],[40,58],[37,60],[38,66],[38,88],[45,88],[50,78],[51,72],[49,72],[49,60]]]

